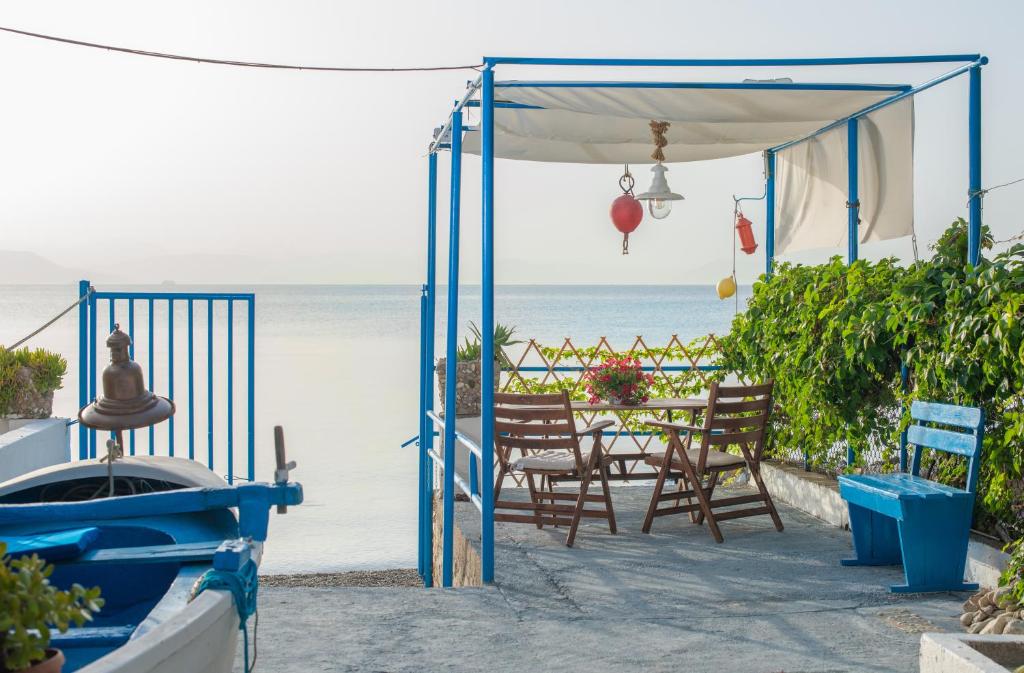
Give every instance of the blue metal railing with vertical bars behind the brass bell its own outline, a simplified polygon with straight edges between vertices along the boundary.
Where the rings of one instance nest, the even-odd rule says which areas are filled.
[[[89,291],[88,281],[79,284],[79,292],[85,294]],[[100,304],[105,302],[103,311],[106,316],[106,325],[100,327]],[[246,338],[245,338],[245,368],[246,368],[246,401],[245,401],[245,423],[246,423],[246,474],[236,475],[236,466],[241,462],[236,460],[236,304],[246,305]],[[206,305],[205,325],[197,325],[197,304]],[[221,338],[215,338],[218,332],[218,305],[225,306],[225,323],[221,325]],[[184,307],[185,324],[175,327],[175,311]],[[141,343],[137,343],[136,335],[136,308],[145,311],[145,351],[140,352]],[[166,310],[164,321],[164,338],[158,339],[158,312]],[[125,320],[127,319],[127,320]],[[158,394],[166,394],[175,402],[177,413],[166,421],[166,443],[157,434],[158,429],[163,428],[151,426],[144,434],[146,435],[145,446],[141,444],[134,430],[129,431],[127,447],[128,455],[134,456],[136,453],[157,455],[166,452],[168,456],[182,456],[178,450],[177,441],[180,437],[175,435],[176,422],[184,423],[187,427],[187,458],[197,458],[197,425],[206,427],[206,465],[211,470],[223,470],[228,483],[236,478],[253,480],[255,477],[255,337],[256,337],[256,295],[252,293],[229,293],[229,292],[126,292],[126,291],[96,291],[89,294],[89,299],[79,307],[79,404],[81,407],[96,398],[97,394],[97,371],[100,363],[105,362],[106,349],[102,334],[114,330],[116,324],[127,324],[127,333],[131,337],[131,356],[145,361],[146,383],[151,390]],[[185,330],[184,356],[185,363],[185,399],[175,398],[175,382],[181,375],[180,370],[175,370],[175,356],[180,355],[176,350],[180,346],[175,346],[175,336],[181,336],[178,331]],[[205,418],[199,418],[197,409],[201,407],[197,399],[197,390],[202,390],[202,381],[197,385],[197,357],[203,353],[197,353],[197,329],[206,330],[206,371],[202,374],[206,376],[206,414]],[[202,341],[202,340],[200,340]],[[181,341],[178,341],[180,344]],[[136,347],[139,346],[139,347]],[[220,359],[224,361],[224,380],[218,380],[217,371],[214,370],[215,363]],[[158,368],[158,364],[160,365]],[[220,383],[220,385],[218,385]],[[223,395],[223,407],[216,407],[215,402]],[[183,404],[182,404],[183,403]],[[218,412],[220,412],[218,414]],[[184,413],[185,419],[181,419]],[[197,420],[200,422],[197,423]],[[215,450],[215,441],[224,436],[224,451]],[[139,434],[142,434],[141,432]],[[163,450],[163,451],[161,451]],[[200,454],[202,455],[202,454]],[[96,457],[96,431],[79,426],[79,459]],[[219,460],[218,460],[219,458]],[[202,460],[202,459],[201,459]]]

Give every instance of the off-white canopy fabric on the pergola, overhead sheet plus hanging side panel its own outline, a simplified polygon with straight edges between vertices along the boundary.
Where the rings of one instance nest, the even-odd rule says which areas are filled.
[[[666,163],[735,157],[807,137],[897,95],[900,85],[499,82],[495,156],[585,164],[651,164],[649,123],[671,124]],[[913,227],[913,101],[860,118],[859,239]],[[775,252],[837,247],[847,239],[847,129],[776,156]],[[463,151],[480,154],[480,134]]]

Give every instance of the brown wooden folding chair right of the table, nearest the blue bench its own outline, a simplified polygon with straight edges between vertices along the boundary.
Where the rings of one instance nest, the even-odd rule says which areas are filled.
[[[708,528],[717,542],[722,542],[719,521],[730,518],[768,514],[775,529],[782,530],[778,511],[761,478],[761,454],[771,412],[773,386],[773,381],[743,386],[713,383],[703,425],[647,422],[647,425],[665,430],[669,446],[664,454],[651,454],[645,461],[658,470],[654,494],[643,522],[644,533],[650,533],[655,516],[682,512],[689,512],[690,519],[695,523],[708,519]],[[685,438],[680,436],[681,433],[685,433]],[[693,435],[697,433],[700,434],[700,445],[694,447]],[[726,449],[729,447],[738,447],[740,454],[728,453]],[[714,500],[715,488],[722,473],[742,467],[750,471],[758,493]],[[670,478],[681,479],[680,488],[685,490],[665,492],[665,482]],[[687,504],[682,505],[684,498]],[[696,500],[695,504],[693,500]],[[675,503],[660,507],[668,501]],[[714,511],[716,508],[749,503],[760,503],[760,506]]]

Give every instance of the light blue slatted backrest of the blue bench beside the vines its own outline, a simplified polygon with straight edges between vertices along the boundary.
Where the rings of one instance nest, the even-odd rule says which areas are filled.
[[[985,413],[977,407],[914,402],[910,405],[910,418],[916,421],[906,429],[906,443],[913,445],[910,473],[920,475],[921,454],[924,449],[964,456],[968,460],[967,491],[974,493],[978,486],[981,443],[985,434]],[[930,425],[932,423],[961,428],[964,431],[932,427]]]

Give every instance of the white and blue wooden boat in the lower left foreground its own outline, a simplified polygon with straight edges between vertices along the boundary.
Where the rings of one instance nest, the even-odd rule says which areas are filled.
[[[189,460],[125,457],[111,467],[129,495],[96,499],[110,477],[100,459],[0,485],[7,552],[54,563],[57,587],[102,590],[93,622],[53,633],[65,673],[230,671],[240,631],[249,639],[269,509],[302,502],[293,465],[274,483],[228,486]]]

